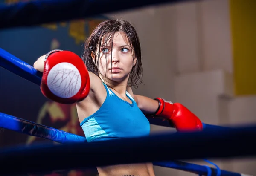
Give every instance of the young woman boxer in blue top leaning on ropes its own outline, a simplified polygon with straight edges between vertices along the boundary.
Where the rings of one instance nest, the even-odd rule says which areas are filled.
[[[84,64],[85,63],[85,64]],[[41,92],[63,104],[76,103],[88,142],[147,136],[144,114],[169,120],[178,131],[202,130],[201,121],[181,104],[134,95],[141,82],[140,41],[125,20],[105,20],[87,38],[82,59],[54,50],[34,63],[43,72]],[[99,176],[154,176],[151,163],[97,167]]]

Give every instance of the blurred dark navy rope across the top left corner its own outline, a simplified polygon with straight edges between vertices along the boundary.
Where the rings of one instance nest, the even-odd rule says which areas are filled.
[[[0,5],[0,28],[39,25],[185,0],[36,0]],[[186,0],[188,1],[188,0]]]

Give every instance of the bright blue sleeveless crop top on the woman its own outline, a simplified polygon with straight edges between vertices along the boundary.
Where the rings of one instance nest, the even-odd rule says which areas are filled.
[[[96,113],[80,123],[87,141],[148,136],[148,119],[131,95],[126,91],[132,104],[119,98],[107,85],[104,86],[107,91],[104,103]]]

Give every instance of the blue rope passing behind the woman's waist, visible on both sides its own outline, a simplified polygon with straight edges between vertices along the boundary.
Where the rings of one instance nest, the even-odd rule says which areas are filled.
[[[28,134],[30,136],[45,138],[61,144],[86,141],[86,138],[83,136],[67,133],[62,130],[58,130],[52,127],[47,127],[32,121],[17,118],[12,115],[7,115],[4,113],[0,113],[0,127],[13,130],[19,133],[23,133],[23,134]],[[213,175],[216,175],[215,173],[218,173],[218,170],[219,170],[214,168],[207,168],[205,166],[201,166],[198,164],[191,164],[191,163],[181,162],[181,161],[154,162],[153,164],[155,166],[174,168],[174,169],[193,172],[193,173],[197,173],[205,176],[209,174],[209,169],[210,169],[210,172],[213,173]],[[240,173],[233,173],[226,170],[219,170],[219,171],[221,172],[221,176],[241,176]]]

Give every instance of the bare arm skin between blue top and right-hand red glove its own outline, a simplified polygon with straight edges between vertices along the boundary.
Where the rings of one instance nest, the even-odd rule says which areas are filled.
[[[143,113],[154,114],[159,107],[159,102],[152,98],[141,95],[134,95],[134,99]]]

